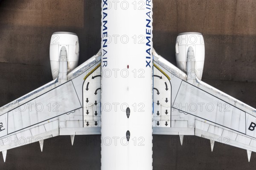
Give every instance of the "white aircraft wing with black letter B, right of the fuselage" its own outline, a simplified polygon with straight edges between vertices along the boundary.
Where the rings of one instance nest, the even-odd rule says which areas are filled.
[[[154,55],[153,134],[195,135],[256,152],[256,110]]]

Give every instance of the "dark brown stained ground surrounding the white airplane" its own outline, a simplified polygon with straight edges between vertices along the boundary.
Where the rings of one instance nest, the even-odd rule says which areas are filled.
[[[154,0],[154,48],[175,64],[178,33],[204,35],[203,81],[256,108],[256,1]],[[101,0],[2,0],[0,2],[0,106],[52,80],[49,39],[55,31],[79,36],[79,64],[101,46]],[[256,153],[185,136],[153,136],[154,170],[256,168]],[[99,170],[100,136],[48,139],[8,150],[0,169]]]

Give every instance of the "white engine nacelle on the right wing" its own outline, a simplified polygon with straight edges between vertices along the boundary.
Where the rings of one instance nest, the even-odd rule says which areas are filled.
[[[188,79],[196,75],[201,80],[204,69],[203,35],[198,32],[178,34],[175,51],[177,67],[188,75]]]

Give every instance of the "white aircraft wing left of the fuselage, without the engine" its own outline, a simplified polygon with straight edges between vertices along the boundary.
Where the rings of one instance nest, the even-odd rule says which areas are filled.
[[[58,135],[100,134],[100,59],[91,57],[68,74],[0,108],[0,151]],[[84,92],[84,96],[82,95]],[[85,103],[85,104],[83,104]],[[99,104],[100,105],[100,104]],[[98,105],[98,106],[99,106]]]

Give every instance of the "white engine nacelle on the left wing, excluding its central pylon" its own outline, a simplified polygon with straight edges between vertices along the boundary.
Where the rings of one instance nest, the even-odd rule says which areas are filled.
[[[79,60],[79,40],[72,32],[55,32],[52,34],[50,42],[50,62],[52,78],[56,79],[59,74],[59,61],[61,48],[65,46],[67,50],[67,73],[78,65]]]

